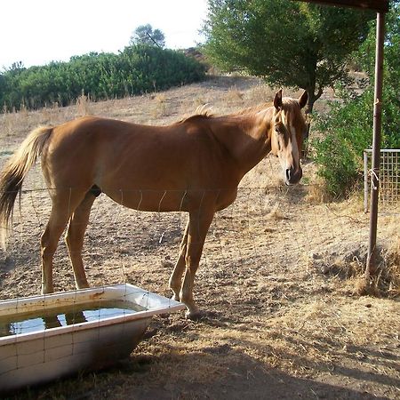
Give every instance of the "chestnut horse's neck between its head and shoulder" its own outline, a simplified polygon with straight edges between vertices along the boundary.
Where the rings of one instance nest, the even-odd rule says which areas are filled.
[[[214,135],[245,174],[271,150],[270,118],[266,115],[220,118]]]

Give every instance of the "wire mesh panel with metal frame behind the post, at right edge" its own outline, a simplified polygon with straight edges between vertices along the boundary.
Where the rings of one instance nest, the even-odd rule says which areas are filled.
[[[364,211],[369,210],[372,150],[364,150]],[[380,211],[400,212],[400,149],[380,150]]]

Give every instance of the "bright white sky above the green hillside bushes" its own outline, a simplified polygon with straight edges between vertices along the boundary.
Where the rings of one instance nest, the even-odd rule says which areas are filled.
[[[165,46],[180,49],[204,41],[199,33],[206,0],[19,0],[0,4],[0,70],[68,61],[88,52],[118,52],[132,32],[150,24]]]

